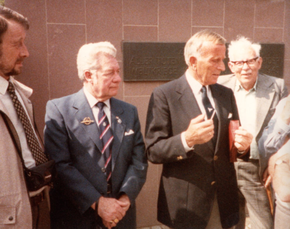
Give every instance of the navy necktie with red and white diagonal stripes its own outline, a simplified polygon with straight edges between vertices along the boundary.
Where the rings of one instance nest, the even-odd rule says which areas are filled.
[[[107,173],[107,181],[110,180],[111,177],[111,170],[112,170],[112,143],[113,143],[113,133],[110,128],[109,120],[104,112],[104,103],[98,102],[97,107],[99,107],[99,114],[98,114],[98,126],[100,130],[100,139],[102,142],[102,156],[104,157]]]

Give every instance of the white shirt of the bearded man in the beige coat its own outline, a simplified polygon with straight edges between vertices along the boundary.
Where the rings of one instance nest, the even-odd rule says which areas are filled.
[[[14,79],[12,77],[10,77],[9,81],[13,83]],[[24,164],[27,168],[35,167],[35,160],[32,156],[32,153],[29,149],[29,146],[27,144],[26,135],[25,135],[23,125],[22,125],[21,120],[19,119],[19,117],[17,115],[14,104],[12,102],[12,99],[11,99],[10,94],[7,91],[7,89],[8,89],[8,81],[0,76],[0,100],[3,102],[4,107],[8,111],[9,118],[10,118],[12,124],[14,125],[15,130],[17,132],[17,135],[19,137]],[[32,129],[35,133],[34,125],[32,124],[32,121],[30,120],[27,109],[26,109],[26,107],[23,103],[23,100],[22,100],[21,96],[19,95],[16,88],[15,88],[15,94],[17,95],[19,102],[23,106],[23,109],[24,109],[24,111],[25,111],[25,113],[30,121],[30,124],[32,126]],[[36,133],[35,133],[35,136],[37,137]],[[1,138],[2,137],[3,136],[1,136]]]

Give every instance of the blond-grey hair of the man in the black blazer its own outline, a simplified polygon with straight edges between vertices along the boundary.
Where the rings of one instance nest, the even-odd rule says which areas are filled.
[[[184,59],[186,64],[190,65],[190,57],[195,56],[198,57],[201,54],[201,48],[204,41],[211,41],[214,44],[224,45],[226,43],[226,39],[224,39],[220,34],[209,30],[202,30],[194,34],[187,42],[184,47]]]

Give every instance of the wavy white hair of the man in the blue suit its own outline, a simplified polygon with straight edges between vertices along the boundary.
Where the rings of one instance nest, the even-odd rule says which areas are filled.
[[[117,50],[108,41],[85,44],[79,49],[77,54],[77,70],[81,80],[84,81],[86,70],[99,69],[99,57],[102,54],[116,58]]]

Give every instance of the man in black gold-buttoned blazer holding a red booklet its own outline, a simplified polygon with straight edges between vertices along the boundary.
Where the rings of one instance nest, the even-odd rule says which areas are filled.
[[[171,228],[230,228],[239,220],[228,131],[238,110],[231,89],[215,84],[225,69],[224,43],[207,30],[192,36],[185,74],[155,88],[149,101],[146,153],[163,164],[157,218]],[[251,140],[242,127],[236,130],[240,152]]]

